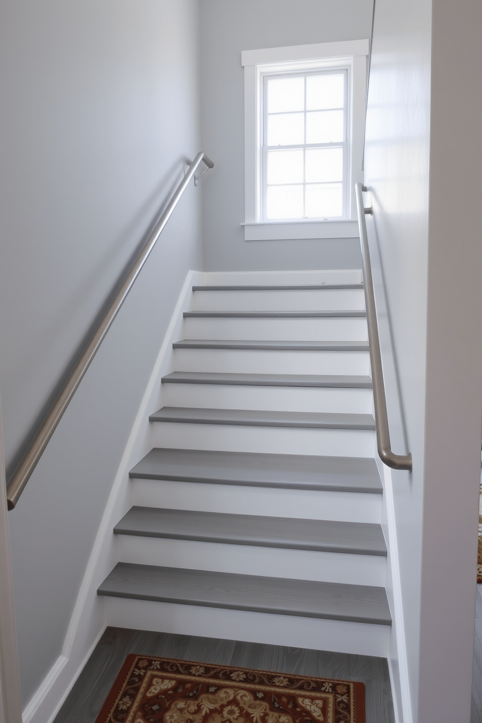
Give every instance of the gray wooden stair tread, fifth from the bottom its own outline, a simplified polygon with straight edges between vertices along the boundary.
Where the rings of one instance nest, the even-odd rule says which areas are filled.
[[[371,389],[366,376],[315,374],[233,374],[222,372],[172,372],[163,384],[223,384],[251,387],[332,387],[338,389]]]

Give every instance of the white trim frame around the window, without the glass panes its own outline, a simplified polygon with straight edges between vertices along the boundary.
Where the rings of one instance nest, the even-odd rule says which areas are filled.
[[[306,46],[264,48],[241,52],[244,67],[244,239],[340,239],[358,236],[353,188],[363,181],[363,117],[366,96],[366,56],[369,40],[346,40]],[[261,221],[262,76],[283,63],[287,72],[312,67],[346,67],[350,73],[348,122],[352,144],[351,174],[348,179],[350,218],[340,221]],[[273,68],[274,64],[276,65]]]

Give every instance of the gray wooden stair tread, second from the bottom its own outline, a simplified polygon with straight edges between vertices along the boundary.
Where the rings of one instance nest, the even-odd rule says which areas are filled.
[[[114,534],[387,556],[382,527],[361,522],[132,507]]]

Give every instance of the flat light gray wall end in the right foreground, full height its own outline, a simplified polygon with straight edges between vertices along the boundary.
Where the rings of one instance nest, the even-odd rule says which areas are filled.
[[[418,719],[427,723],[470,720],[482,409],[481,34],[480,2],[432,3],[418,696]]]

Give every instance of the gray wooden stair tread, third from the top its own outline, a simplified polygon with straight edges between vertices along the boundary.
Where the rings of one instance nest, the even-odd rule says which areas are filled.
[[[183,339],[175,349],[272,349],[277,351],[369,351],[368,341],[226,341],[225,339]]]

